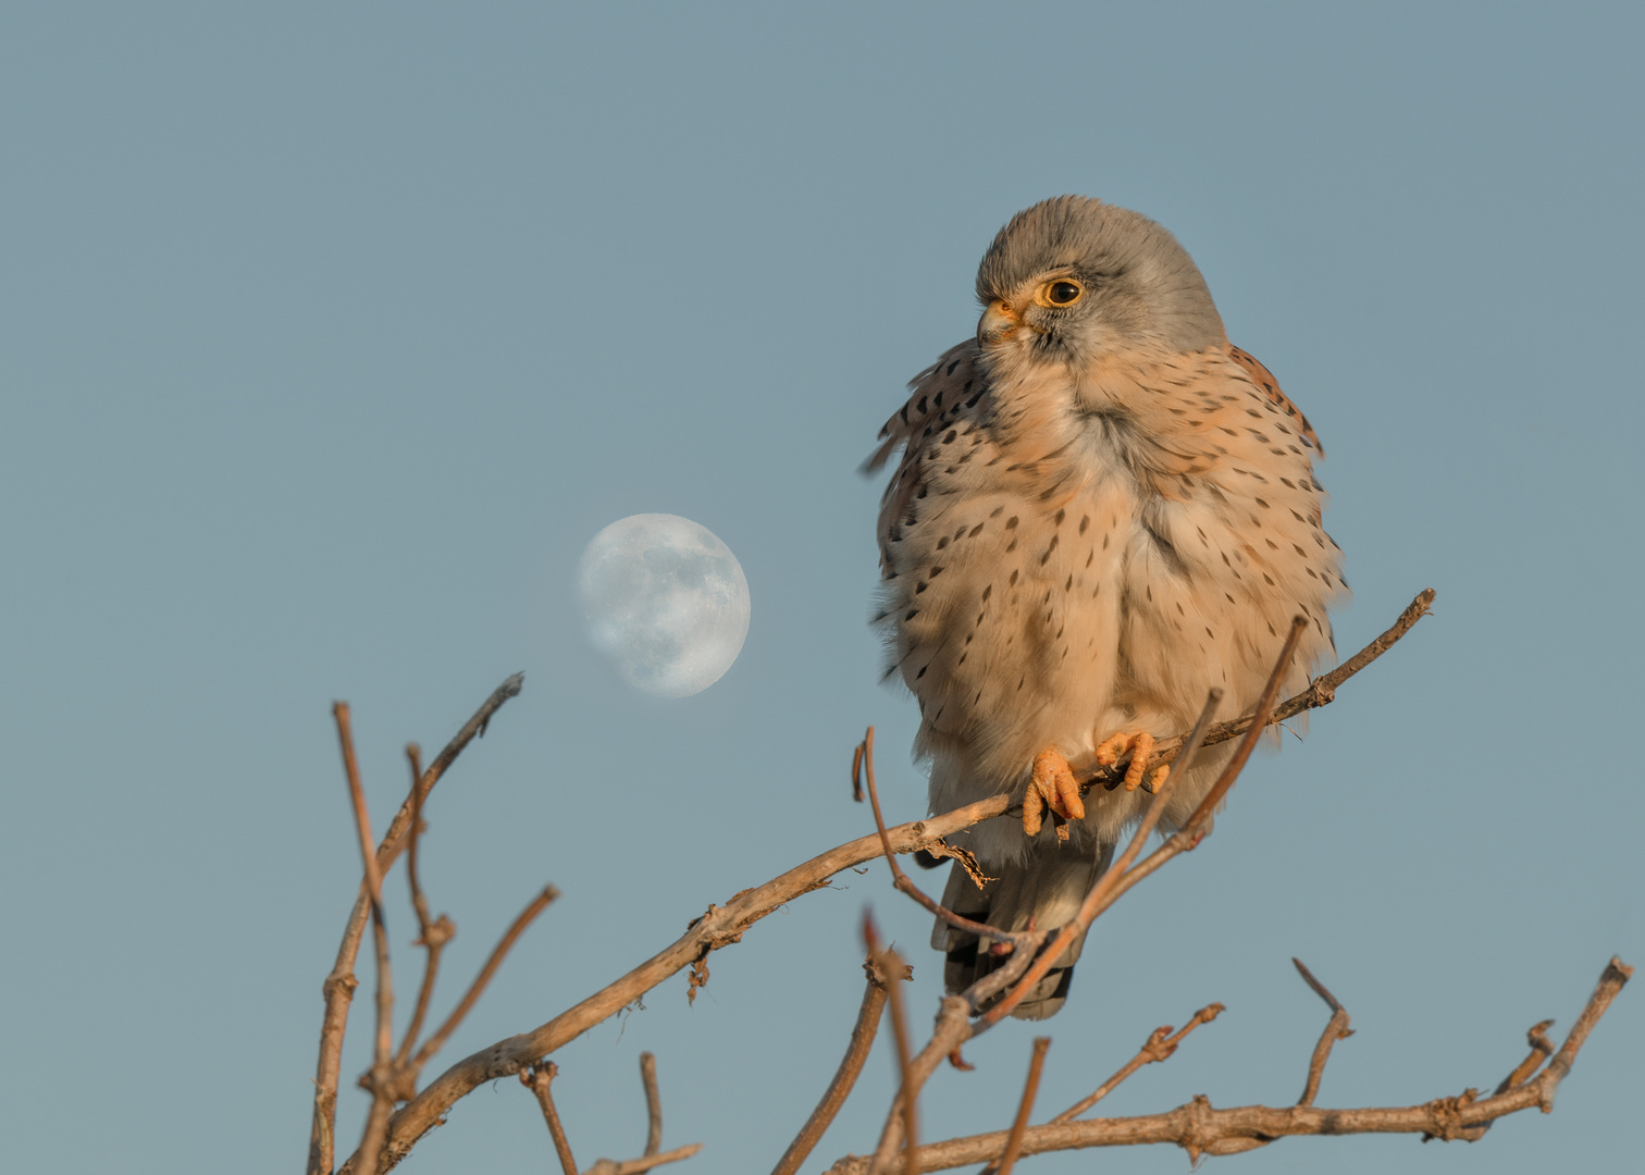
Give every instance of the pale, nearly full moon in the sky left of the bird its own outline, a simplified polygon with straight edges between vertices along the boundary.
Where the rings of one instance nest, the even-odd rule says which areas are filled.
[[[577,563],[589,640],[623,681],[689,698],[719,681],[748,635],[748,581],[707,527],[635,513],[597,533]]]

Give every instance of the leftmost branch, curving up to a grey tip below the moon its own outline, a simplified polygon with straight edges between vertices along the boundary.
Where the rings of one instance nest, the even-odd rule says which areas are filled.
[[[485,731],[492,714],[505,701],[520,693],[523,681],[525,675],[515,673],[497,686],[492,696],[474,711],[474,718],[457,731],[456,737],[446,744],[446,749],[439,752],[423,773],[413,793],[400,805],[400,811],[395,813],[395,818],[388,823],[388,831],[383,833],[383,839],[377,846],[378,877],[388,872],[388,867],[400,854],[401,836],[411,823],[413,810],[421,806],[441,775],[446,773],[446,769],[462,754],[462,749]],[[354,999],[355,987],[359,987],[359,981],[354,978],[354,959],[360,951],[368,907],[370,887],[362,880],[354,908],[349,912],[349,922],[344,925],[342,943],[337,946],[337,959],[332,963],[326,982],[321,984],[324,1012],[319,1030],[319,1061],[314,1071],[314,1116],[309,1129],[308,1175],[331,1175],[336,1160],[337,1078],[342,1068],[342,1037],[349,1024],[349,1004]]]

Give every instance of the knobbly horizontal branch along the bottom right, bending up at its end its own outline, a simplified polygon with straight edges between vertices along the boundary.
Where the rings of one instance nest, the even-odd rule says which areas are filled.
[[[1444,1140],[1472,1140],[1482,1127],[1507,1114],[1533,1106],[1548,1112],[1559,1081],[1571,1071],[1578,1052],[1594,1025],[1610,1007],[1617,992],[1633,974],[1633,968],[1610,959],[1599,986],[1543,1071],[1523,1084],[1492,1098],[1479,1099],[1467,1089],[1453,1098],[1436,1098],[1420,1106],[1377,1109],[1319,1109],[1316,1106],[1239,1106],[1214,1109],[1206,1098],[1194,1098],[1165,1114],[1138,1117],[1092,1117],[1050,1122],[1023,1132],[1023,1154],[1084,1147],[1135,1147],[1173,1142],[1191,1160],[1201,1155],[1229,1155],[1267,1145],[1275,1139],[1303,1134],[1418,1134]],[[920,1170],[949,1170],[987,1162],[1005,1145],[1007,1132],[974,1134],[964,1139],[931,1142],[920,1149]],[[827,1175],[867,1175],[870,1160],[849,1155],[829,1168]]]

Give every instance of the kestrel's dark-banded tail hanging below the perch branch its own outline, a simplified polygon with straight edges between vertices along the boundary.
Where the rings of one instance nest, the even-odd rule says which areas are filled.
[[[964,866],[956,861],[943,890],[943,905],[962,913],[972,922],[984,922],[999,930],[1058,930],[1074,920],[1079,903],[1092,884],[1109,867],[1112,848],[1104,848],[1101,857],[1089,857],[1068,846],[1036,844],[1026,861],[1000,869],[1000,877],[977,885]],[[1051,969],[1045,973],[1028,996],[1012,1010],[1025,1020],[1045,1020],[1056,1015],[1068,1001],[1068,986],[1074,978],[1074,963],[1086,945],[1081,933],[1071,941]],[[1010,958],[1005,943],[987,936],[979,938],[964,930],[954,930],[938,920],[931,933],[931,946],[943,951],[943,984],[948,992],[959,994],[977,979],[995,971]],[[999,997],[995,997],[999,999]]]

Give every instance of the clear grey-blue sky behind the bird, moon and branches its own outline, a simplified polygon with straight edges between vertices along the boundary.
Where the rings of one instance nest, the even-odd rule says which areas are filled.
[[[405,741],[433,750],[526,673],[428,813],[459,927],[436,1005],[543,882],[564,897],[449,1060],[864,833],[846,765],[869,722],[892,818],[921,815],[855,469],[903,380],[972,331],[994,230],[1064,191],[1170,227],[1318,428],[1355,589],[1339,643],[1439,599],[1104,918],[1043,1106],[1211,1001],[1229,1012],[1109,1112],[1293,1099],[1324,1024],[1293,954],[1359,1029],[1321,1104],[1495,1084],[1612,953],[1645,958],[1642,36],[1632,5],[8,8],[13,1162],[301,1163],[359,872],[334,698],[382,824]],[[747,571],[744,653],[696,698],[633,693],[579,630],[576,558],[638,512],[701,522]],[[638,1150],[650,1048],[668,1144],[709,1147],[694,1170],[775,1163],[844,1047],[864,903],[923,1024],[924,915],[883,866],[847,875],[716,954],[694,1007],[679,978],[558,1057],[582,1162]],[[403,903],[390,930],[405,989]],[[1551,1117],[1217,1163],[1622,1168],[1637,1004]],[[1008,1124],[1031,1035],[941,1075],[929,1129]],[[890,1089],[877,1055],[808,1170],[870,1145]],[[345,1080],[350,1137],[364,1104]],[[551,1162],[503,1083],[406,1170]]]

